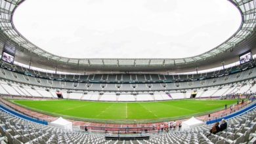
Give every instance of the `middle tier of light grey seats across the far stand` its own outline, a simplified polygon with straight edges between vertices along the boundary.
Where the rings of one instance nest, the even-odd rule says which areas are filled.
[[[244,81],[238,88],[238,93],[244,94],[250,91],[251,84],[247,84],[247,80],[253,80],[256,77],[256,68],[247,69],[240,73],[234,73],[230,75],[225,75],[223,77],[215,77],[212,79],[203,79],[198,81],[190,82],[161,82],[161,83],[92,83],[92,82],[70,82],[70,81],[56,81],[50,79],[41,79],[38,77],[31,77],[28,75],[22,75],[7,69],[0,68],[0,79],[3,79],[5,88],[9,89],[10,84],[18,82],[19,85],[30,84],[33,86],[47,87],[47,88],[58,88],[58,89],[68,89],[68,90],[88,90],[88,91],[166,91],[166,90],[184,90],[184,89],[198,89],[202,87],[213,87],[213,86],[223,86],[227,84],[232,84],[240,81]],[[4,71],[4,72],[3,72]],[[251,73],[250,73],[251,72]],[[15,75],[15,77],[13,76]],[[10,82],[9,82],[10,81]],[[251,82],[252,83],[252,82]],[[0,88],[3,89],[3,86]],[[13,88],[11,88],[13,89]],[[10,90],[14,92],[15,90]],[[7,94],[5,90],[1,91],[3,94]],[[14,94],[13,93],[13,94]],[[25,92],[26,93],[26,92]],[[209,93],[208,95],[219,95],[215,92],[205,91]]]

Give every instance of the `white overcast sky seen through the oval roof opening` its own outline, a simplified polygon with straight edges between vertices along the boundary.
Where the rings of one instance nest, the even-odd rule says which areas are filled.
[[[223,43],[241,23],[226,0],[26,0],[14,25],[69,58],[184,58]]]

